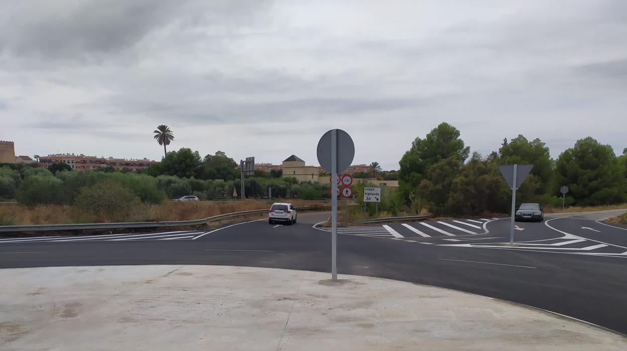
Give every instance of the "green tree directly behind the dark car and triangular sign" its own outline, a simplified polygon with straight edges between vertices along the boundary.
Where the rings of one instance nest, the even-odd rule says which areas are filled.
[[[537,202],[541,195],[551,192],[553,170],[549,148],[540,139],[527,140],[522,135],[507,142],[503,141],[498,149],[499,165],[529,163],[534,165],[525,182],[520,186],[519,195],[522,202]]]

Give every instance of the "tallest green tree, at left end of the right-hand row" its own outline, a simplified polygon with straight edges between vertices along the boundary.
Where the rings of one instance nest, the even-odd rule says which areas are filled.
[[[441,123],[424,139],[416,138],[399,161],[398,178],[404,200],[413,192],[427,174],[429,167],[453,156],[458,162],[468,158],[470,148],[460,139],[460,131],[448,123]]]

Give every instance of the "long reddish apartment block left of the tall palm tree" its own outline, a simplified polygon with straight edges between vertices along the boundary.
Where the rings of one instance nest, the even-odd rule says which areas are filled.
[[[96,156],[85,156],[84,154],[51,154],[48,156],[41,156],[40,163],[42,166],[47,167],[55,162],[62,162],[70,165],[72,170],[75,171],[89,171],[98,170],[103,167],[113,167],[117,169],[130,168],[130,170],[136,171],[144,169],[147,166],[152,165],[155,161],[147,158],[143,159],[125,159],[125,158],[102,158]]]

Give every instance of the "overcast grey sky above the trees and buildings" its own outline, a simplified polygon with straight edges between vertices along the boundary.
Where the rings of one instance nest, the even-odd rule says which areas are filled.
[[[472,151],[627,148],[627,1],[0,0],[0,139],[17,154],[183,147],[398,161],[440,122]]]

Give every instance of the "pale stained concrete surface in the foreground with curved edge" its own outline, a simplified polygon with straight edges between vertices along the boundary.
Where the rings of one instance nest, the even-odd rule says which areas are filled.
[[[585,323],[449,289],[233,266],[0,270],[2,350],[624,350]]]

